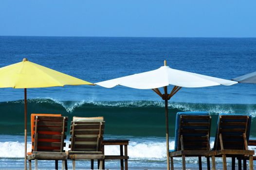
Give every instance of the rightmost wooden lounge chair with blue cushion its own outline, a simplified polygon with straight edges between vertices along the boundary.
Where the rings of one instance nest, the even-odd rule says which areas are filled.
[[[215,170],[215,157],[222,156],[223,170],[227,170],[226,157],[232,157],[232,170],[235,158],[249,155],[250,170],[253,170],[254,151],[248,150],[251,116],[219,114],[218,129],[212,155],[212,169]]]

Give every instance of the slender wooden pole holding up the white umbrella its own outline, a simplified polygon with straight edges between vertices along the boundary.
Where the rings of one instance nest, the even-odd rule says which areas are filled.
[[[166,154],[167,154],[167,170],[170,170],[170,157],[169,157],[169,123],[168,123],[168,100],[167,100],[167,86],[165,89],[165,127],[166,127]]]

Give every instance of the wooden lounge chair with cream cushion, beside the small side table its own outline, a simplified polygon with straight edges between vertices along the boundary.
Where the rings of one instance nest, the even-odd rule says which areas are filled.
[[[105,121],[103,117],[77,118],[73,117],[70,130],[69,159],[72,159],[73,170],[75,160],[90,159],[93,170],[93,160],[100,161],[99,169],[102,170],[104,154],[101,151]]]

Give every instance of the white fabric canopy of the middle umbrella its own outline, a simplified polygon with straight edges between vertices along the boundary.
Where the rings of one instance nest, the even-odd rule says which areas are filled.
[[[137,89],[153,89],[167,85],[180,87],[207,87],[213,85],[234,85],[238,82],[173,69],[168,66],[125,77],[95,83],[107,88],[123,85]]]

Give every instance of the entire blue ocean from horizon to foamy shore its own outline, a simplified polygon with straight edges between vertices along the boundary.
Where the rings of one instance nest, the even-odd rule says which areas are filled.
[[[255,57],[256,38],[0,36],[0,67],[28,58],[91,83],[157,69],[164,65],[164,60],[171,68],[232,79],[254,72]],[[23,89],[0,88],[1,170],[23,168],[23,93]],[[28,115],[60,113],[69,120],[73,116],[104,116],[105,139],[130,140],[129,169],[165,169],[165,108],[162,99],[152,90],[67,85],[28,89],[27,97]],[[176,113],[181,111],[208,111],[211,114],[211,146],[219,113],[252,115],[250,138],[256,138],[256,85],[182,88],[168,104],[170,149],[174,148]],[[28,130],[30,151],[30,124]],[[106,154],[116,154],[119,148],[109,146],[105,150]],[[187,158],[186,161],[187,167],[197,169],[197,158]],[[204,168],[205,162],[203,159]],[[89,169],[89,163],[78,162],[77,168]],[[180,158],[174,159],[174,163],[181,169]],[[221,159],[217,159],[219,169],[221,163]],[[228,164],[231,164],[229,159]],[[68,165],[71,168],[71,162]],[[115,170],[118,166],[118,161],[106,161],[106,168]],[[38,167],[52,169],[54,162],[39,161]]]

